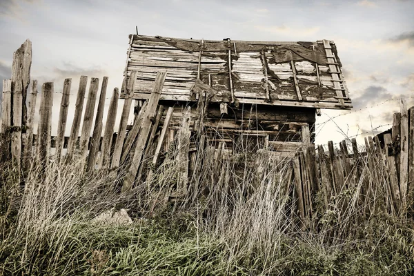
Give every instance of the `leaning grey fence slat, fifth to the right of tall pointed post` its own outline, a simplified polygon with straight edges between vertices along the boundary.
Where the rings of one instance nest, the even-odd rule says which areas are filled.
[[[97,92],[99,89],[99,79],[91,78],[88,92],[88,99],[86,101],[86,109],[83,114],[83,124],[81,130],[81,140],[79,141],[79,166],[83,170],[85,166],[86,155],[88,154],[88,143],[90,137],[90,130],[92,129],[93,114],[95,112],[95,103],[97,100]]]

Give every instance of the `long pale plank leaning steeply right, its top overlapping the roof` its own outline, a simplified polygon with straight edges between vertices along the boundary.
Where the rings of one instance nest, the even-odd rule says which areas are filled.
[[[144,148],[148,139],[150,132],[150,120],[155,116],[155,111],[158,105],[159,97],[161,96],[161,91],[164,86],[164,81],[166,79],[166,72],[158,72],[157,79],[155,80],[154,89],[152,90],[152,97],[148,101],[148,106],[146,112],[144,113],[144,119],[142,121],[142,128],[140,135],[137,139],[137,145],[135,146],[135,152],[132,155],[131,166],[124,181],[124,186],[122,190],[129,190],[132,188],[132,184],[135,181],[139,165],[141,163],[142,155],[144,155]]]

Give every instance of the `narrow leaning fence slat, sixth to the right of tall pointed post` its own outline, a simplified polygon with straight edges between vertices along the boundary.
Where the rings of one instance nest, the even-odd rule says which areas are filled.
[[[92,170],[92,168],[95,168],[95,161],[97,158],[97,154],[99,152],[99,142],[101,141],[102,119],[103,119],[103,110],[105,109],[105,97],[106,97],[107,87],[108,87],[108,77],[103,77],[102,86],[101,86],[101,95],[99,95],[97,116],[95,117],[95,126],[93,127],[92,143],[90,145],[90,150],[89,150],[89,155],[88,155],[88,166],[86,167],[86,170],[88,171]]]

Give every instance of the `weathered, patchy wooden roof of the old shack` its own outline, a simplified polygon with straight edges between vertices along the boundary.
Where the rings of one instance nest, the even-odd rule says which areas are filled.
[[[212,101],[350,109],[333,41],[267,42],[174,39],[130,34],[126,81],[137,70],[133,99],[148,99],[157,71],[167,77],[161,100]],[[230,64],[230,66],[229,66]]]

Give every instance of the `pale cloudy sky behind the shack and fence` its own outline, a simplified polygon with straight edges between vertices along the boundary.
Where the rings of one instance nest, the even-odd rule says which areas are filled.
[[[402,97],[414,105],[413,14],[411,0],[0,0],[0,81],[10,78],[12,53],[26,39],[32,41],[32,79],[54,81],[61,92],[71,77],[76,94],[81,75],[108,76],[107,97],[121,86],[135,26],[140,34],[194,39],[331,39],[354,110],[322,110],[316,142],[325,144],[388,129],[377,127],[391,124]],[[55,115],[60,97],[55,95]],[[70,97],[71,110],[75,101]]]

